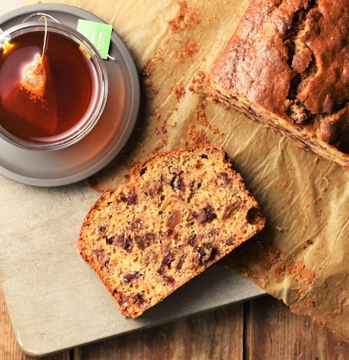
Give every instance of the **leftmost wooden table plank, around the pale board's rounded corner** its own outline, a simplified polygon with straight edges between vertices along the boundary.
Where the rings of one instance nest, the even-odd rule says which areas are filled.
[[[3,292],[0,288],[0,359],[1,360],[32,360],[34,357],[24,354],[19,350],[15,341],[10,318],[6,309]],[[46,356],[44,360],[69,360],[69,351]]]

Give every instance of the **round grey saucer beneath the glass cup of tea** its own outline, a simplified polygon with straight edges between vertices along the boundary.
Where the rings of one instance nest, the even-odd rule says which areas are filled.
[[[1,16],[0,27],[6,30],[37,12],[52,15],[74,29],[78,19],[104,22],[74,6],[36,4]],[[36,17],[30,19],[35,20]],[[47,152],[17,148],[0,139],[0,174],[29,185],[67,185],[99,171],[121,151],[136,123],[140,85],[130,51],[114,30],[109,55],[115,60],[103,60],[108,74],[108,98],[102,116],[89,134],[67,148]]]

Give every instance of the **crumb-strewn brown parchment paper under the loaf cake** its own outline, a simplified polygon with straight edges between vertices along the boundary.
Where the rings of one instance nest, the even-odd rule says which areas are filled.
[[[116,188],[132,165],[182,144],[223,145],[267,226],[222,264],[349,341],[349,172],[203,93],[207,73],[250,1],[59,2],[112,23],[140,73],[135,131],[90,184],[99,191]]]

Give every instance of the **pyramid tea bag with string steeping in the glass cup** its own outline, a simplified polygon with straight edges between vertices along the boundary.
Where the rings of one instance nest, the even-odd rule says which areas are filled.
[[[45,18],[42,53],[37,55],[34,62],[30,62],[24,60],[28,48],[16,49],[14,46],[0,71],[0,83],[4,84],[0,86],[1,103],[8,111],[27,121],[28,125],[42,129],[43,136],[53,135],[57,127],[54,79],[45,55],[46,36]],[[15,45],[15,42],[13,44]],[[20,63],[19,69],[18,63]]]

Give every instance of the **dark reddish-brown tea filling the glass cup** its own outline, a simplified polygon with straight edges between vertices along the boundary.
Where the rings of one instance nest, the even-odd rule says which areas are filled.
[[[55,142],[74,133],[91,116],[96,101],[96,70],[73,40],[47,32],[42,84],[23,86],[23,75],[37,63],[44,31],[22,33],[0,52],[0,126],[29,143]]]

